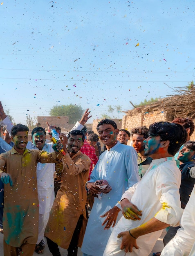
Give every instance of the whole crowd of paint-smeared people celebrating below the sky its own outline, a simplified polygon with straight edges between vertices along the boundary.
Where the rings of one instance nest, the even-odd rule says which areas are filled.
[[[87,109],[65,134],[13,125],[0,102],[0,231],[4,256],[195,255],[195,125],[190,118],[118,129]],[[130,140],[131,138],[131,140]],[[101,144],[99,142],[101,141]],[[103,145],[101,147],[101,145]],[[131,146],[130,146],[131,145]],[[90,212],[90,215],[88,214]]]

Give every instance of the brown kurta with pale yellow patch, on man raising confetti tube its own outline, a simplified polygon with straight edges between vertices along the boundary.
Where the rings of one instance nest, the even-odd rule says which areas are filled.
[[[72,158],[68,154],[63,157],[62,183],[50,211],[45,236],[64,249],[69,247],[81,214],[83,214],[83,225],[86,222],[85,184],[88,180],[90,163],[90,158],[81,151]],[[78,244],[80,247],[83,236],[81,232]]]

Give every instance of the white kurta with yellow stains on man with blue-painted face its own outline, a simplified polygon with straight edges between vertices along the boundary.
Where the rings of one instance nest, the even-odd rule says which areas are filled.
[[[149,255],[162,230],[137,238],[139,249],[134,247],[133,252],[127,254],[120,249],[122,238],[117,238],[117,235],[139,227],[153,217],[161,222],[178,226],[183,212],[179,195],[180,183],[181,172],[173,157],[152,160],[142,180],[130,187],[121,198],[121,200],[127,198],[142,211],[141,220],[128,220],[122,216],[108,240],[103,255]]]

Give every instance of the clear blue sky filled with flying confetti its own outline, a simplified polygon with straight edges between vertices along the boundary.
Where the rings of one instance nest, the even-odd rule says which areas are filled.
[[[173,94],[195,80],[194,10],[192,0],[2,1],[4,109],[25,124],[72,103],[96,119]]]

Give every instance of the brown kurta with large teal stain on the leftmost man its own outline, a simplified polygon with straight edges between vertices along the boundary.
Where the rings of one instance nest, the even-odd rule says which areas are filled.
[[[39,202],[36,165],[55,163],[56,153],[25,149],[23,155],[12,148],[0,155],[0,173],[11,174],[13,186],[4,185],[4,239],[8,245],[36,244]]]

